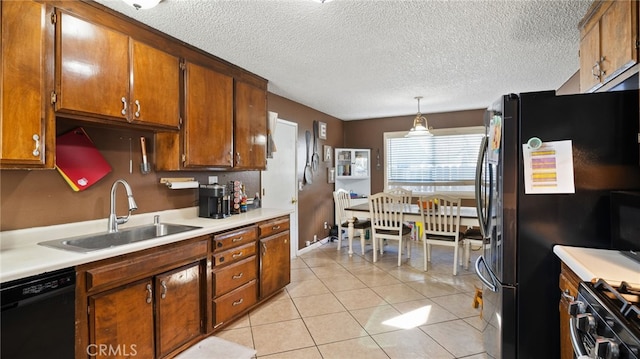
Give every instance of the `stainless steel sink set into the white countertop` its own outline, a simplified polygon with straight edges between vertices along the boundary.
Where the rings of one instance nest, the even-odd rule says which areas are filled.
[[[202,227],[184,226],[180,224],[158,223],[145,226],[122,228],[112,233],[94,233],[84,236],[55,239],[40,242],[39,245],[65,249],[74,252],[92,252],[99,249],[113,248],[125,244],[146,241],[149,239],[183,233]]]

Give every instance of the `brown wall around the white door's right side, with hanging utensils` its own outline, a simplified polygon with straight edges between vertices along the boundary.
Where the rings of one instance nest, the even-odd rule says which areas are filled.
[[[306,164],[305,131],[313,134],[314,120],[327,124],[327,139],[318,140],[319,153],[322,153],[323,145],[333,148],[344,146],[343,121],[272,93],[268,96],[268,108],[277,112],[278,118],[298,124],[298,181],[303,181]],[[322,161],[322,158],[319,164],[313,183],[304,185],[303,190],[298,192],[298,248],[304,248],[305,241],[313,241],[314,234],[318,239],[327,237],[329,231],[324,229],[324,222],[333,224],[333,184],[327,183],[327,168],[331,164]]]

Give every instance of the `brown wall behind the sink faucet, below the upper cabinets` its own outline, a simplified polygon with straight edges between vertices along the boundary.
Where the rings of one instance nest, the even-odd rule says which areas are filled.
[[[194,177],[207,183],[217,175],[220,183],[238,179],[248,193],[259,192],[260,172],[140,172],[142,159],[140,136],[147,138],[148,156],[153,164],[153,133],[97,127],[95,124],[58,119],[57,134],[82,126],[112,171],[93,186],[74,192],[56,170],[0,170],[0,230],[13,230],[53,224],[104,219],[109,215],[111,185],[125,179],[131,185],[138,204],[134,214],[197,205],[197,190],[170,190],[160,184],[162,177]],[[133,173],[129,174],[129,138],[132,144]],[[117,189],[117,213],[126,214],[126,197]]]

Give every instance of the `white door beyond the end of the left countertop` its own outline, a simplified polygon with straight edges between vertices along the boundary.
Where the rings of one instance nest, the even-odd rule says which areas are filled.
[[[267,158],[267,170],[261,172],[261,206],[292,211],[290,234],[291,257],[294,258],[298,254],[298,124],[278,119],[273,140],[276,151],[273,158]]]

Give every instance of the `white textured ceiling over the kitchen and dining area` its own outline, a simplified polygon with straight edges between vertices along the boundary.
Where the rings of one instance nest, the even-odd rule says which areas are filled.
[[[579,67],[592,0],[163,0],[131,18],[269,80],[342,120],[485,108],[553,90]]]

